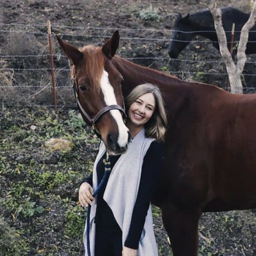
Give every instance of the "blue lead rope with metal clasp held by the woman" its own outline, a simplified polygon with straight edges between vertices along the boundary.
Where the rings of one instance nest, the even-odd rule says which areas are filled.
[[[110,162],[108,161],[108,153],[106,153],[106,159],[103,160],[103,163],[105,164],[105,171],[104,171],[104,175],[103,178],[101,180],[101,182],[99,183],[99,186],[95,189],[94,193],[93,193],[93,197],[95,197],[98,192],[101,190],[103,184],[106,183],[108,176],[110,175],[111,172],[111,167],[110,167]],[[90,249],[90,214],[91,214],[91,205],[88,206],[88,210],[87,210],[87,220],[86,220],[86,238],[87,238],[87,254],[88,256],[91,256],[91,249]]]

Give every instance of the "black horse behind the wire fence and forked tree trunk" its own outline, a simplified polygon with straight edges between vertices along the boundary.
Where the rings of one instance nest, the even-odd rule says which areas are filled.
[[[226,31],[227,47],[230,49],[231,44],[231,30],[232,24],[235,23],[234,46],[239,42],[240,31],[246,21],[248,21],[249,14],[239,11],[233,7],[221,8],[222,25]],[[217,50],[219,49],[219,42],[214,27],[214,18],[209,10],[181,17],[179,14],[173,27],[173,34],[169,45],[170,58],[176,59],[179,53],[191,42],[195,36],[203,36],[212,41],[212,44]],[[248,44],[246,45],[246,54],[256,53],[256,25],[249,31]],[[253,32],[255,31],[255,32]],[[254,41],[254,42],[253,42]],[[236,53],[236,47],[234,48]]]

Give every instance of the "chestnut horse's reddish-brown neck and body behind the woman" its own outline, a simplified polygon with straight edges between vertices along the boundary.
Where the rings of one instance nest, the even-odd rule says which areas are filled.
[[[115,53],[118,40],[115,33],[103,52],[107,45]],[[169,127],[153,203],[162,210],[174,255],[196,256],[203,211],[256,207],[256,95],[230,94],[105,55],[110,81],[123,78],[124,97],[145,82],[163,93]]]

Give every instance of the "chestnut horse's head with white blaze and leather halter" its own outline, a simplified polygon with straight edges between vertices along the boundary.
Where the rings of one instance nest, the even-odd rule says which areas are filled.
[[[111,62],[119,44],[118,31],[102,48],[87,45],[77,49],[57,38],[73,63],[72,83],[84,121],[94,127],[110,154],[125,153],[130,135],[124,123],[122,75]]]

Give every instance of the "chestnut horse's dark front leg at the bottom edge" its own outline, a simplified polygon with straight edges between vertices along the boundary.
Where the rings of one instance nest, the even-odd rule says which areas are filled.
[[[167,230],[174,256],[197,256],[198,219],[201,211],[179,210],[168,205],[162,208],[164,227]]]

